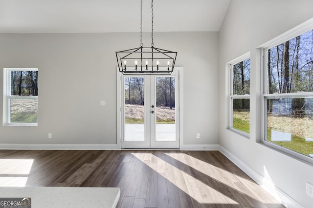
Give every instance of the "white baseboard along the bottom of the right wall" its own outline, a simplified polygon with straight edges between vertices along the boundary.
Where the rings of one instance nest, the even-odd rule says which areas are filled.
[[[252,170],[245,163],[239,160],[232,153],[227,151],[224,147],[220,146],[220,152],[222,152],[231,162],[243,170],[250,178],[257,182],[263,189],[268,191],[273,197],[275,197],[280,203],[287,208],[303,208],[299,203],[293,200],[289,195],[278,189],[275,184],[268,181],[266,178]]]

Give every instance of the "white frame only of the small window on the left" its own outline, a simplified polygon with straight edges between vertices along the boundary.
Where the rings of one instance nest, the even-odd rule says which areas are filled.
[[[11,72],[12,71],[37,71],[38,68],[4,68],[3,69],[3,126],[38,126],[38,115],[36,123],[14,123],[11,122],[11,100],[12,99],[37,99],[38,96],[11,95]],[[37,109],[38,110],[38,109]]]

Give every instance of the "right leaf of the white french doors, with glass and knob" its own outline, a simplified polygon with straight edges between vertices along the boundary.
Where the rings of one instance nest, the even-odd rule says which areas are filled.
[[[179,149],[179,72],[151,77],[151,149]]]

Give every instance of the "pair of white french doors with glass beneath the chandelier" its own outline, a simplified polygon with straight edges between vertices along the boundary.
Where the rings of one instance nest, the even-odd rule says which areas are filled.
[[[179,72],[121,75],[121,148],[179,149]]]

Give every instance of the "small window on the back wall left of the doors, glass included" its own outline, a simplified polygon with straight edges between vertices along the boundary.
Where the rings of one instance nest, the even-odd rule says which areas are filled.
[[[38,69],[4,68],[3,125],[37,125]]]

